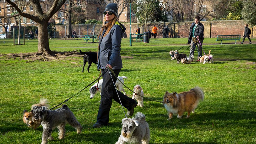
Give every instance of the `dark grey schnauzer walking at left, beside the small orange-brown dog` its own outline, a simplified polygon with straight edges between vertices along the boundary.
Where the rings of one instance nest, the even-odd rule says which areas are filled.
[[[48,110],[46,106],[33,107],[33,122],[40,123],[43,126],[42,143],[47,143],[47,139],[53,140],[51,136],[52,130],[58,127],[59,139],[65,136],[66,122],[77,130],[77,134],[81,133],[82,126],[67,105],[63,104],[62,108],[56,110]]]

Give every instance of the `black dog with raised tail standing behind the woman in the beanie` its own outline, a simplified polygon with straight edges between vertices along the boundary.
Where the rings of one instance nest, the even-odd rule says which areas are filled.
[[[92,51],[82,52],[81,50],[79,50],[79,51],[80,51],[80,54],[84,54],[84,56],[83,56],[84,57],[84,66],[85,66],[86,62],[88,62],[87,71],[89,72],[89,68],[92,65],[92,62],[97,65],[97,52],[92,52]],[[84,72],[84,66],[83,66],[82,72]]]

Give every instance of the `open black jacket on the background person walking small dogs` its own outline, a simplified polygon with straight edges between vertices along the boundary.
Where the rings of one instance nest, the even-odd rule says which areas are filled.
[[[189,31],[189,36],[188,36],[188,43],[190,44],[191,43],[191,39],[193,37],[193,28],[195,26],[196,23],[192,23],[192,25],[190,26],[190,31]],[[195,29],[195,37],[196,36],[199,36],[199,39],[204,39],[204,25],[201,24],[200,22],[198,23],[198,25],[196,26],[196,29]]]

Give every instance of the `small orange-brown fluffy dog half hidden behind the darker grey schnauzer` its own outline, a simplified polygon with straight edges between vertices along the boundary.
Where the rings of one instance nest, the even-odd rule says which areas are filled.
[[[31,110],[33,109],[34,106],[47,106],[49,107],[49,105],[47,104],[48,101],[47,99],[40,99],[40,102],[38,104],[33,104],[31,106]],[[30,127],[31,129],[36,129],[38,128],[41,124],[36,124],[35,122],[32,121],[32,117],[34,116],[33,112],[30,111],[28,112],[27,110],[23,111],[23,122]]]

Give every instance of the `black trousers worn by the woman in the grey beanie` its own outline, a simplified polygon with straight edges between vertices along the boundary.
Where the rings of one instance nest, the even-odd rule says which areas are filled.
[[[116,76],[120,73],[121,69],[113,69]],[[127,109],[131,110],[135,107],[135,100],[127,97],[120,91],[117,91],[120,97],[120,100],[118,98],[118,95],[116,93],[114,83],[116,82],[116,78],[112,75],[112,78],[114,80],[114,83],[111,79],[110,73],[107,69],[102,69],[101,72],[107,71],[103,75],[103,82],[102,82],[102,90],[101,90],[101,98],[100,98],[100,106],[98,110],[98,116],[97,116],[97,123],[102,125],[108,125],[109,122],[109,111],[112,105],[112,99],[114,99],[116,102],[120,103],[120,100],[122,102],[122,105]],[[122,108],[120,108],[120,111],[123,111]]]

